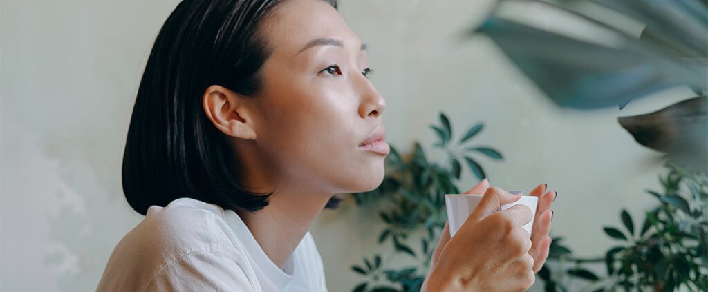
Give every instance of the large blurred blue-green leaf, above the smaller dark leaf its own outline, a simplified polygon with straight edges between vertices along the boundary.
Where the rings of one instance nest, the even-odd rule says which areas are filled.
[[[663,54],[641,40],[612,30],[605,35],[617,39],[621,45],[600,45],[554,33],[562,29],[557,27],[560,23],[567,25],[567,20],[580,22],[586,18],[573,18],[562,9],[537,1],[514,2],[527,3],[528,9],[537,13],[523,13],[524,19],[543,21],[547,29],[524,25],[523,20],[501,18],[495,13],[476,31],[489,35],[526,76],[562,107],[613,107],[674,86],[704,87],[708,80],[704,66],[687,64],[683,58]],[[665,2],[668,1],[662,1]],[[539,19],[564,14],[567,17],[562,21]]]

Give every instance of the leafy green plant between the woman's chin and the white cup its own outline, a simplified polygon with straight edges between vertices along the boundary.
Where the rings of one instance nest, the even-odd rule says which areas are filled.
[[[385,226],[378,243],[389,243],[392,250],[387,257],[379,254],[364,257],[362,264],[351,267],[355,273],[366,277],[353,291],[420,291],[430,256],[447,220],[445,194],[459,193],[455,182],[462,175],[460,161],[464,161],[470,172],[482,180],[486,173],[473,154],[493,160],[503,159],[501,153],[491,147],[468,145],[484,129],[484,124],[469,127],[457,143],[452,143],[452,124],[444,113],[440,113],[440,124],[430,128],[439,139],[433,146],[446,154],[444,164],[428,160],[418,142],[406,156],[399,155],[391,147],[382,184],[370,192],[354,194],[360,206],[378,208],[379,218]],[[411,246],[409,243],[420,233],[423,235],[415,240],[420,243],[419,248]],[[390,267],[392,257],[401,254],[412,257],[417,265]]]

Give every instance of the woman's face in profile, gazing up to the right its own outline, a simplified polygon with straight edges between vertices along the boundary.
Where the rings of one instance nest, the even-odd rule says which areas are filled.
[[[270,57],[253,102],[255,143],[287,180],[326,192],[364,192],[384,177],[383,153],[360,147],[386,107],[369,82],[366,52],[322,0],[283,1],[263,30]]]

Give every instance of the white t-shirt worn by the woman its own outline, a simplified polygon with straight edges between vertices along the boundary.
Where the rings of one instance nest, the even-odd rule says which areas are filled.
[[[232,210],[181,198],[150,206],[108,259],[98,292],[327,291],[308,232],[280,269]]]

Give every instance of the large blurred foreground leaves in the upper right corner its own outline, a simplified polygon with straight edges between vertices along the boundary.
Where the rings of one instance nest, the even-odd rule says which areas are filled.
[[[651,93],[691,88],[695,97],[649,115],[620,117],[619,123],[673,164],[708,173],[708,1],[496,4],[473,35],[490,37],[561,107],[621,110]],[[639,35],[632,23],[644,25]]]

